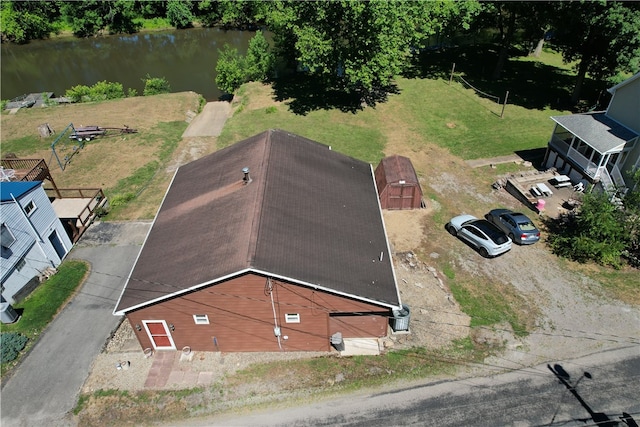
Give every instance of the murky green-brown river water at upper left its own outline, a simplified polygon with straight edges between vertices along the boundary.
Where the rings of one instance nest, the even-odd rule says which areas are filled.
[[[213,101],[221,95],[215,84],[218,49],[229,44],[244,55],[254,34],[193,28],[4,43],[0,97],[8,100],[40,92],[63,96],[73,86],[103,80],[122,83],[125,93],[135,89],[142,95],[142,79],[149,74],[167,79],[172,92],[194,91]]]

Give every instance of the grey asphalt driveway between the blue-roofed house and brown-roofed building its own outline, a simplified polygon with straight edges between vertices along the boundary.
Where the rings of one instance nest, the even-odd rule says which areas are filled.
[[[2,384],[1,424],[75,425],[70,411],[94,358],[120,323],[112,311],[150,222],[93,224],[69,254],[91,264],[76,297]]]

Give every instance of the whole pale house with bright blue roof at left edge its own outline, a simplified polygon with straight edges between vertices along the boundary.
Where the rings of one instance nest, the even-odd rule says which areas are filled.
[[[42,181],[0,182],[2,302],[21,300],[60,265],[72,242]]]

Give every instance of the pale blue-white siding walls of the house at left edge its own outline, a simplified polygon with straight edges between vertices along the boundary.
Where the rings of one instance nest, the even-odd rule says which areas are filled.
[[[72,242],[42,187],[34,188],[18,199],[22,209],[31,201],[36,208],[28,219],[14,202],[1,205],[2,223],[9,228],[16,239],[9,250],[2,250],[0,261],[4,288],[2,296],[9,302],[14,302],[13,296],[33,277],[47,267],[60,265],[72,247]],[[60,255],[49,240],[49,236],[54,231],[60,241]],[[15,267],[22,259],[25,264],[18,272]]]

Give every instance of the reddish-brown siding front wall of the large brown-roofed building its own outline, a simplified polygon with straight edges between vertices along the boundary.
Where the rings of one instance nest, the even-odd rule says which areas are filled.
[[[195,351],[280,351],[274,335],[273,308],[285,351],[328,351],[330,313],[385,312],[384,308],[353,301],[294,284],[272,280],[273,306],[267,279],[253,274],[202,289],[127,314],[132,326],[143,320],[165,320],[175,326],[171,336],[176,348]],[[285,314],[297,313],[300,323],[285,323]],[[194,314],[206,314],[209,325],[196,325]],[[384,316],[341,318],[345,337],[383,336]],[[347,319],[347,320],[344,320]],[[143,348],[153,348],[144,328],[135,331]],[[287,336],[288,339],[284,339]],[[214,343],[214,338],[217,346]]]

